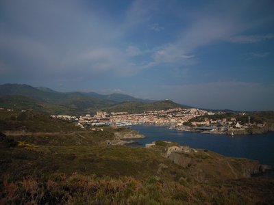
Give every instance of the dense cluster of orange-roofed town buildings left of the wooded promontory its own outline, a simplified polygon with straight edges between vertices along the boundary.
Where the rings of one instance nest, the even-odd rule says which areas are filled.
[[[167,109],[160,111],[146,111],[144,113],[127,113],[97,111],[94,116],[86,114],[84,116],[71,115],[51,115],[53,118],[71,120],[80,127],[86,126],[131,126],[134,124],[155,124],[160,126],[182,126],[184,122],[192,118],[207,114],[208,111],[201,109]]]

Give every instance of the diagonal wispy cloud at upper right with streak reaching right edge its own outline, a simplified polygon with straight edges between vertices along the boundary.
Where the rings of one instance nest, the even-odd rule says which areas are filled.
[[[209,46],[219,42],[258,42],[274,38],[273,34],[263,36],[237,36],[238,33],[258,27],[266,21],[264,17],[249,20],[253,1],[214,1],[204,8],[181,12],[182,19],[188,19],[187,26],[176,40],[153,49],[151,61],[145,68],[159,64],[191,64],[195,61],[195,51],[201,46]],[[256,9],[256,7],[255,7]],[[157,29],[157,26],[155,28]],[[259,57],[259,56],[257,56]]]

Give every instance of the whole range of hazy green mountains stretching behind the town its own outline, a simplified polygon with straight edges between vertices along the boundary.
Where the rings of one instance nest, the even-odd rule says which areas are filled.
[[[95,111],[128,111],[186,108],[171,100],[144,100],[126,94],[97,94],[96,92],[57,92],[47,87],[22,84],[0,85],[0,107],[31,109],[51,114],[82,114]]]

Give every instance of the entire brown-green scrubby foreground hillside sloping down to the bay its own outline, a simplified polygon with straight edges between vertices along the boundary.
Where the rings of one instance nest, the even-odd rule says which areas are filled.
[[[49,115],[0,111],[0,204],[273,204],[274,178],[258,161],[210,150],[171,153],[108,144],[125,128],[95,131]]]

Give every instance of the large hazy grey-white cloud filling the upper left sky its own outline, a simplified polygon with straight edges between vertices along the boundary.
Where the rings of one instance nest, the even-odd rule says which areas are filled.
[[[8,56],[1,55],[0,61],[9,66],[10,74],[92,79],[104,72],[114,76],[133,73],[116,46],[123,33],[120,25],[100,18],[96,10],[86,10],[83,2],[30,0],[5,4],[3,15],[14,27],[0,22],[0,52]]]

